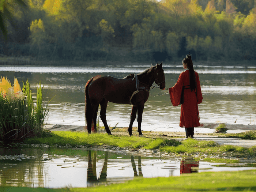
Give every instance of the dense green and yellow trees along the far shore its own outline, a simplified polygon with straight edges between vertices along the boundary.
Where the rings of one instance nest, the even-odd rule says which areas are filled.
[[[24,2],[1,5],[12,15],[1,16],[1,64],[10,56],[15,65],[180,61],[188,53],[223,65],[256,59],[255,0]]]

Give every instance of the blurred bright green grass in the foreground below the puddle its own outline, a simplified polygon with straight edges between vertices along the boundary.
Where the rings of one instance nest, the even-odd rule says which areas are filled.
[[[92,188],[25,188],[0,187],[3,192],[153,192],[153,191],[256,191],[256,170],[238,172],[203,172],[182,174],[180,177],[136,178],[123,184]]]

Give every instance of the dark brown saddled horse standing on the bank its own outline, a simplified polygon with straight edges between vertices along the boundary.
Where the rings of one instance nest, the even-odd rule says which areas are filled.
[[[113,102],[133,105],[128,128],[129,135],[132,135],[132,124],[138,110],[138,132],[139,135],[142,135],[142,113],[150,87],[155,82],[160,89],[165,89],[165,74],[162,64],[163,62],[160,65],[157,64],[146,69],[138,75],[130,74],[123,79],[102,75],[91,78],[85,86],[85,119],[88,133],[91,133],[91,128],[97,132],[97,110],[100,104],[101,120],[106,132],[111,135],[106,121],[106,109],[108,102]]]

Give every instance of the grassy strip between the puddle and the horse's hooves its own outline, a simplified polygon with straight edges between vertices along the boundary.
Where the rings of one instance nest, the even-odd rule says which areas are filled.
[[[84,132],[65,132],[53,131],[50,137],[26,139],[26,144],[48,144],[56,146],[113,146],[128,148],[130,151],[136,151],[140,148],[146,150],[159,149],[161,152],[172,156],[192,155],[196,159],[205,159],[206,161],[227,162],[230,158],[255,157],[256,146],[251,148],[219,145],[213,141],[199,141],[195,139],[186,139],[181,142],[170,138],[150,138],[139,136],[107,135],[107,134],[87,134]],[[218,158],[217,158],[218,157]],[[238,161],[237,161],[238,162]]]

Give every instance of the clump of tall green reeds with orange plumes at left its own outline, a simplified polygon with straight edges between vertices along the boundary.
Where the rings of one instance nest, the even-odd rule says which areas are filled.
[[[36,102],[28,80],[23,82],[21,90],[16,78],[12,86],[7,77],[1,77],[0,91],[0,140],[7,142],[42,135],[49,102],[42,103],[41,82],[37,85]]]

